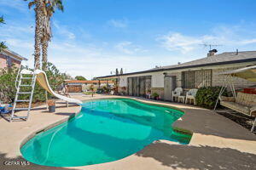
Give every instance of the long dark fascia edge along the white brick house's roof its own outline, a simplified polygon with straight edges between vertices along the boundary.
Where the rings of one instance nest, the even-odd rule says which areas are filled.
[[[148,72],[173,71],[173,70],[188,69],[188,68],[195,68],[195,67],[201,67],[201,66],[236,64],[236,63],[243,63],[243,62],[250,62],[250,61],[256,61],[256,58],[253,58],[253,59],[238,59],[238,60],[231,60],[231,61],[224,61],[224,62],[217,62],[217,63],[209,63],[209,64],[201,64],[201,65],[180,66],[180,67],[176,67],[176,68],[166,68],[166,69],[158,69],[158,70],[137,71],[137,72],[126,73],[126,74],[122,74],[122,75],[118,75],[118,76],[143,74],[143,73],[148,73]],[[96,77],[96,78],[106,78],[106,77],[117,77],[117,75],[110,75],[110,76]]]

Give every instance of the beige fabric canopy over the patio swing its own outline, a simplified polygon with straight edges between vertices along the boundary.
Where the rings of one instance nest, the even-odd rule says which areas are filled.
[[[250,82],[256,82],[256,65],[244,67],[234,71],[224,71],[219,75],[230,75],[231,77],[240,77]]]

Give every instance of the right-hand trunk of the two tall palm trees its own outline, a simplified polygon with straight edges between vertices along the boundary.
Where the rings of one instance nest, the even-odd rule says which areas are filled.
[[[55,13],[55,9],[63,11],[62,0],[44,0],[44,19],[43,19],[43,37],[42,37],[42,65],[43,70],[47,69],[48,62],[48,44],[51,34],[50,18]]]

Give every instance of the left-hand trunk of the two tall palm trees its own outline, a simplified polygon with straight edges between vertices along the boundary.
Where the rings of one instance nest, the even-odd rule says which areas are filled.
[[[30,1],[28,8],[34,7],[36,14],[36,28],[35,28],[35,46],[34,46],[34,67],[40,68],[41,55],[41,39],[43,37],[43,17],[44,17],[44,0],[24,0]]]

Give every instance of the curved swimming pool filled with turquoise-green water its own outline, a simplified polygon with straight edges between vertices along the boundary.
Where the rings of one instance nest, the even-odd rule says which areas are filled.
[[[154,140],[188,144],[191,135],[172,123],[182,111],[134,99],[84,102],[78,116],[38,133],[20,151],[27,161],[52,167],[76,167],[130,156]]]

